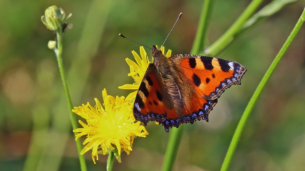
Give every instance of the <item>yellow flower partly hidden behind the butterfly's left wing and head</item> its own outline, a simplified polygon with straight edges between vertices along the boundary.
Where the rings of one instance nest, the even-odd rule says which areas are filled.
[[[157,46],[158,48],[158,46]],[[164,46],[161,46],[161,52],[164,55]],[[144,74],[146,72],[146,69],[148,67],[148,64],[151,63],[148,60],[147,57],[147,53],[144,49],[143,46],[140,46],[140,56],[138,55],[138,53],[136,53],[134,50],[131,51],[131,53],[133,54],[133,56],[135,57],[135,61],[137,63],[135,63],[133,60],[126,58],[126,62],[129,65],[130,68],[130,73],[128,74],[128,76],[131,76],[135,82],[133,84],[124,84],[122,86],[119,86],[120,89],[128,89],[128,90],[136,90],[132,93],[130,93],[127,97],[126,100],[133,100],[135,98],[135,96],[137,95],[137,91],[139,89],[140,83],[144,77]],[[171,55],[171,50],[168,50],[166,53],[166,57],[169,58]],[[152,59],[153,60],[153,59]]]

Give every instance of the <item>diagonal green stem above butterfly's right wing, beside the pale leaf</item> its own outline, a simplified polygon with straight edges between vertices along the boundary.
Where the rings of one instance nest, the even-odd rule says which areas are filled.
[[[264,0],[253,0],[247,8],[242,12],[239,18],[232,24],[232,26],[219,38],[217,39],[210,47],[204,50],[204,53],[207,55],[214,56],[219,53],[225,46],[227,46],[234,35],[239,32],[244,23],[251,17],[253,12],[260,6]]]

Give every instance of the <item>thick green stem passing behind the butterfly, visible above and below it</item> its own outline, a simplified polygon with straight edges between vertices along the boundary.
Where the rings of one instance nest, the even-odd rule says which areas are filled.
[[[191,54],[199,54],[200,50],[203,49],[206,30],[209,25],[209,14],[213,4],[211,1],[213,0],[206,0],[204,2]],[[164,154],[162,171],[170,171],[173,168],[184,127],[185,125],[180,125],[178,128],[171,128],[166,151]]]

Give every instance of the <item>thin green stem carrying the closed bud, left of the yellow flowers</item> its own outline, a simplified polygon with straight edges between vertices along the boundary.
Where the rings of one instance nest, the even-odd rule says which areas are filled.
[[[72,101],[71,101],[71,97],[69,94],[69,89],[68,89],[68,85],[66,82],[66,77],[64,74],[64,70],[63,70],[63,59],[62,59],[62,52],[63,52],[63,31],[62,29],[58,29],[56,31],[57,33],[57,49],[55,49],[55,54],[56,54],[56,59],[57,59],[57,63],[58,63],[58,67],[59,67],[59,73],[60,73],[60,77],[61,80],[63,82],[63,88],[65,90],[65,94],[66,94],[66,99],[67,99],[67,103],[68,103],[68,109],[69,109],[69,114],[70,114],[70,119],[71,119],[71,123],[72,123],[72,128],[76,129],[77,128],[77,122],[75,119],[75,116],[72,112],[73,109],[73,105],[72,105]],[[74,132],[74,135],[76,135],[77,133]],[[86,162],[84,159],[84,156],[82,156],[81,150],[82,150],[82,146],[81,146],[81,140],[77,139],[76,141],[76,146],[77,146],[77,151],[78,151],[78,158],[79,158],[79,162],[81,165],[81,170],[82,171],[86,171],[87,170],[87,166],[86,166]]]

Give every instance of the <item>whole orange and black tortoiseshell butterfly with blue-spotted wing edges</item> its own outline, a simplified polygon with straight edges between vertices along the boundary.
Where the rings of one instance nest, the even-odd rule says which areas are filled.
[[[133,113],[144,125],[159,122],[166,132],[184,123],[209,121],[217,98],[232,84],[241,84],[246,72],[237,62],[210,56],[177,54],[167,58],[156,45],[152,45],[152,56],[153,63],[140,84]]]

